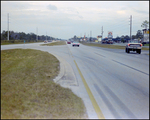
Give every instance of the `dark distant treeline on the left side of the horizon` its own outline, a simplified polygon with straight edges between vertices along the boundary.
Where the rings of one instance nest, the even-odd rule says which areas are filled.
[[[3,30],[3,32],[1,33],[1,40],[7,40],[7,33],[8,31]],[[9,40],[26,40],[28,42],[31,41],[36,41],[36,34],[34,33],[24,33],[24,32],[14,32],[14,31],[9,31]],[[39,41],[44,41],[46,40],[58,40],[58,38],[54,38],[51,36],[45,36],[45,35],[38,35],[38,40]]]

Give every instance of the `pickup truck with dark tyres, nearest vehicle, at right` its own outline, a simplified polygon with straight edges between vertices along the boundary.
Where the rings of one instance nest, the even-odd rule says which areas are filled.
[[[138,54],[141,54],[141,49],[142,44],[138,40],[130,40],[126,45],[125,52],[136,51]]]

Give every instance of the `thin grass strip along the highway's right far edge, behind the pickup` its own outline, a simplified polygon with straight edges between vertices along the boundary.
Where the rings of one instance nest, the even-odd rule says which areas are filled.
[[[125,49],[125,46],[111,45],[111,44],[96,44],[96,43],[86,43],[86,42],[81,42],[81,44],[87,46],[110,48],[110,49]],[[142,47],[142,50],[149,50],[149,48]]]

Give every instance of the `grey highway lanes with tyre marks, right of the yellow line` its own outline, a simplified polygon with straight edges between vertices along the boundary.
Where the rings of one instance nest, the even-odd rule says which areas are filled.
[[[105,118],[149,118],[148,55],[69,48]]]

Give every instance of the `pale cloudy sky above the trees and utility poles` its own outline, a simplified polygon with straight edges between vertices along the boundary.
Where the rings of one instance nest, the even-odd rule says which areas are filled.
[[[1,33],[35,33],[55,38],[136,35],[149,21],[149,1],[1,1]],[[132,19],[131,19],[132,16]]]

